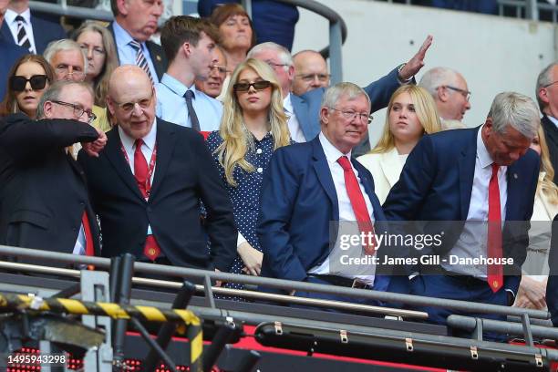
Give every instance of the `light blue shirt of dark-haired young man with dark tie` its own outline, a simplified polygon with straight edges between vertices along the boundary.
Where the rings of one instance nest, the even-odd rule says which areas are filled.
[[[219,130],[222,117],[222,103],[215,98],[211,98],[192,84],[191,88],[186,87],[171,75],[164,74],[160,83],[155,86],[157,89],[157,116],[160,119],[191,128],[191,119],[186,107],[186,90],[193,91],[191,105],[196,111],[200,121],[202,131]]]

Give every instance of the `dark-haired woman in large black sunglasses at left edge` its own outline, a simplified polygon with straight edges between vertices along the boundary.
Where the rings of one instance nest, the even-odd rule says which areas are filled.
[[[8,75],[5,98],[0,103],[0,115],[23,112],[29,118],[36,119],[39,100],[54,78],[55,72],[44,57],[20,57]]]

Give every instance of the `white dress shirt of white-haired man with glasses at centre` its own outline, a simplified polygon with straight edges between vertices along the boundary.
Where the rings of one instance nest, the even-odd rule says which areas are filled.
[[[346,192],[345,186],[345,172],[343,171],[343,167],[337,162],[337,160],[342,157],[346,156],[349,160],[351,159],[351,152],[344,154],[341,151],[337,150],[336,147],[325,137],[323,132],[319,134],[319,140],[322,145],[322,149],[325,152],[325,159],[327,160],[327,166],[329,171],[331,171],[331,177],[334,181],[334,185],[336,187],[336,195],[337,195],[337,203],[339,206],[339,223],[340,228],[339,232],[342,231],[343,234],[355,234],[359,235],[358,226],[356,224],[356,216],[355,212],[353,211],[353,206],[349,199],[348,193]],[[349,161],[350,162],[350,161]],[[362,185],[362,181],[358,177],[358,171],[356,171],[355,167],[351,163],[351,168],[355,172],[356,180],[358,181],[358,185],[360,186],[360,191],[362,192],[362,196],[367,204],[367,211],[370,214],[370,221],[374,221],[374,209],[372,208],[372,203],[368,198],[367,191],[365,190],[364,186]],[[346,222],[346,223],[343,223]],[[325,261],[317,267],[313,267],[308,274],[331,274],[337,276],[344,276],[348,278],[359,278],[362,281],[366,282],[367,284],[374,284],[374,274],[376,271],[376,267],[374,265],[351,265],[350,267],[345,267],[345,269],[349,269],[350,272],[343,272],[344,267],[343,265],[336,263],[335,265],[331,265],[330,267],[330,259],[334,259],[338,262],[338,257],[343,254],[348,253],[351,257],[360,256],[364,257],[365,253],[362,250],[362,246],[359,244],[357,247],[357,252],[355,250],[351,251],[344,251],[340,248],[339,244],[339,237],[341,233],[337,235],[337,241],[335,246],[329,253],[328,257]],[[335,258],[334,258],[335,257]],[[361,273],[361,274],[359,274]],[[366,274],[362,274],[366,273]]]

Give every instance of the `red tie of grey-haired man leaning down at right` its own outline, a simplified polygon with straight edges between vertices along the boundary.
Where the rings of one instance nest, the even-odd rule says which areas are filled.
[[[489,226],[488,226],[488,258],[501,261],[501,209],[500,188],[498,187],[498,169],[492,163],[492,176],[489,183]],[[501,264],[488,265],[488,282],[492,292],[498,292],[503,285]]]

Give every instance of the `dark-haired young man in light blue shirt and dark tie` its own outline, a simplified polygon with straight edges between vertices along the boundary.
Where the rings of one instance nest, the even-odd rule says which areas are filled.
[[[157,116],[209,135],[218,130],[222,103],[194,84],[214,69],[219,34],[209,21],[188,15],[173,16],[160,31],[160,42],[170,61],[157,85]]]

